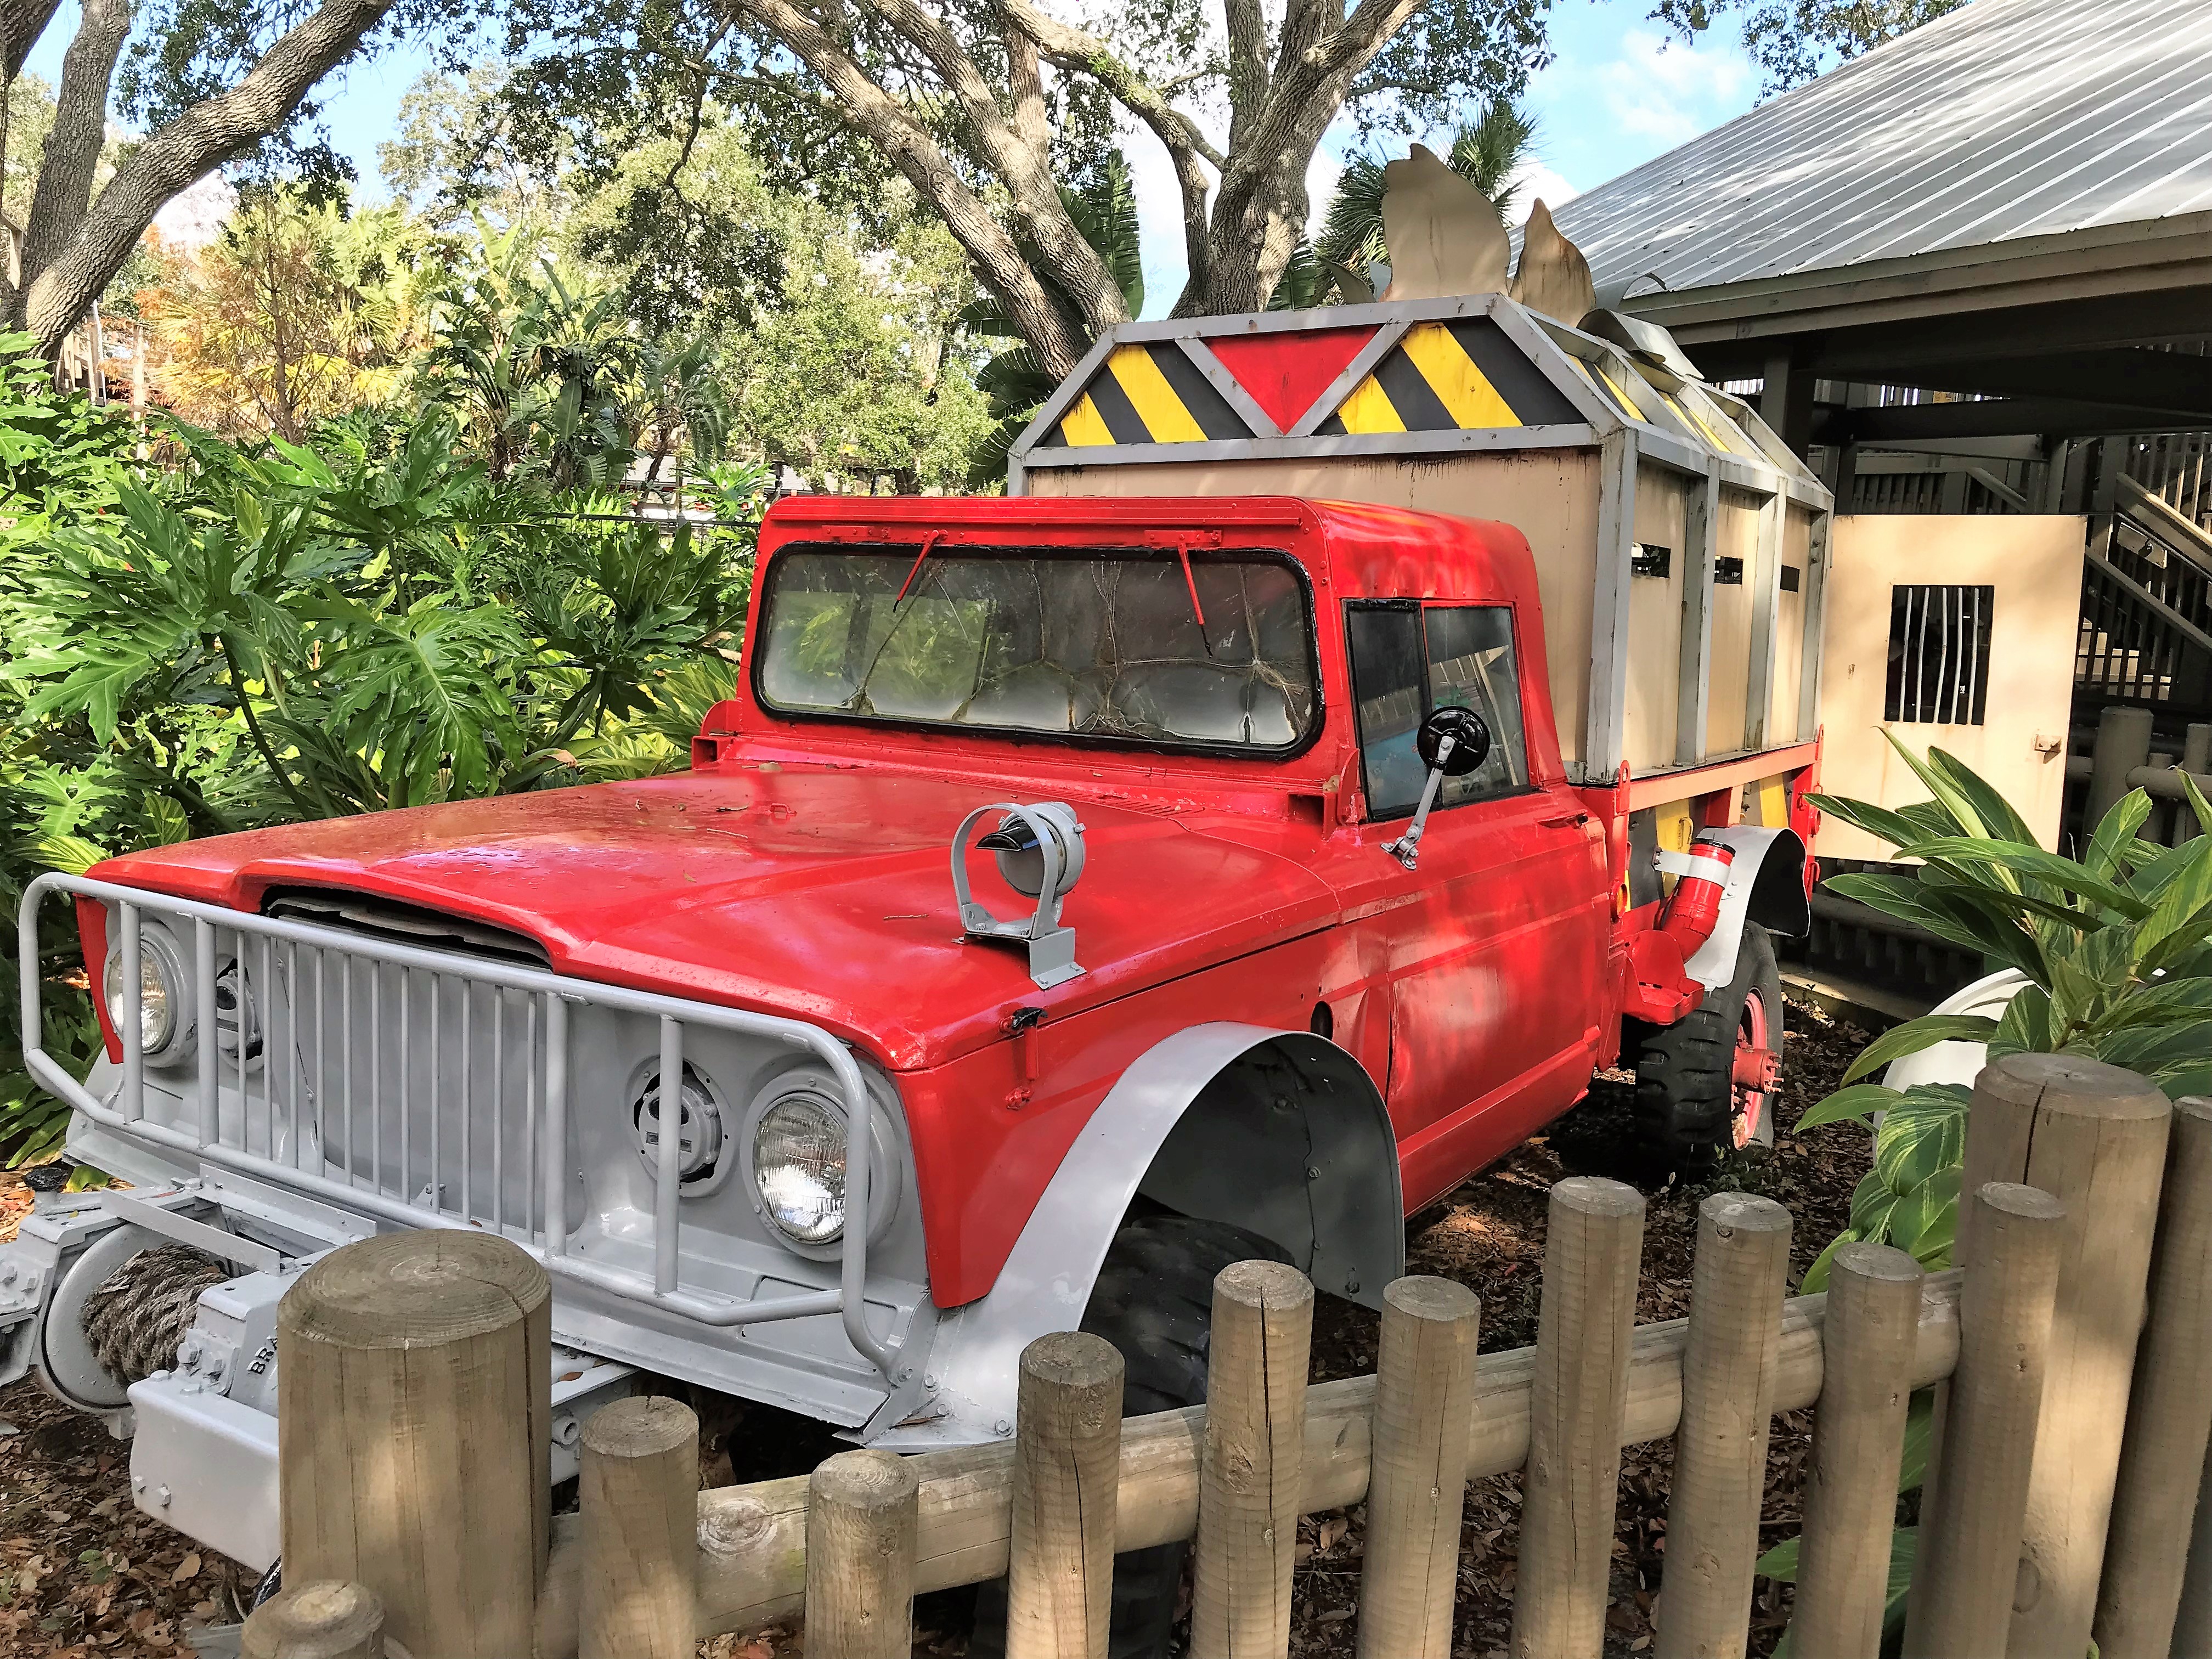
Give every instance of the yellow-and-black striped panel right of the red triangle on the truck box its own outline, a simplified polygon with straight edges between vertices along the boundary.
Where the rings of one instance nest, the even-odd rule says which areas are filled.
[[[1486,316],[1416,323],[1316,436],[1551,427],[1575,405]]]

